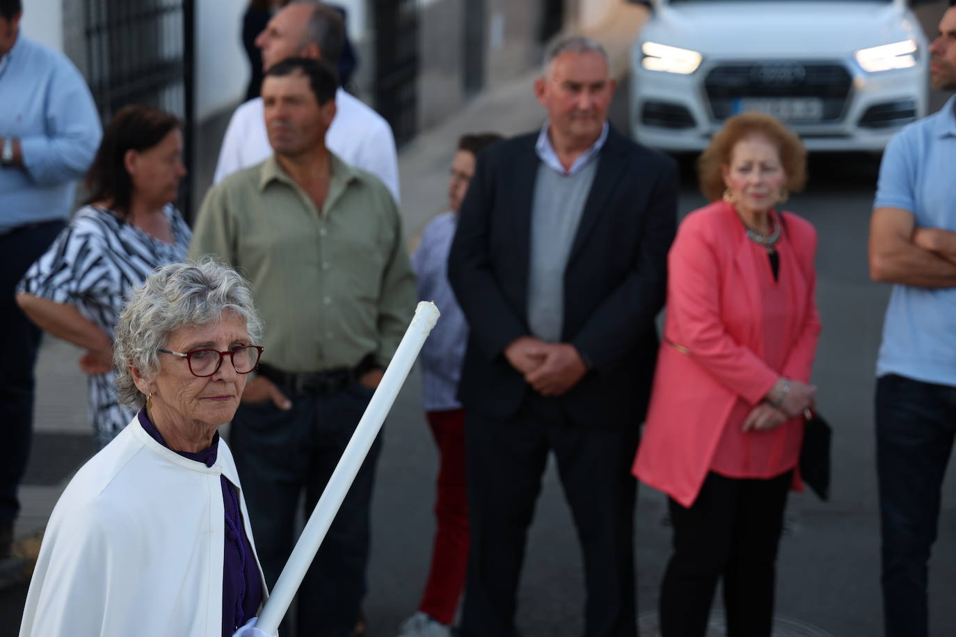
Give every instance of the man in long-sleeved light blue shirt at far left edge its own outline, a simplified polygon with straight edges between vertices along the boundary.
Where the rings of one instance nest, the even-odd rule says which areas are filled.
[[[40,330],[14,288],[53,243],[102,134],[76,67],[19,33],[20,0],[0,0],[0,560],[10,553],[16,489],[33,426],[33,363]]]

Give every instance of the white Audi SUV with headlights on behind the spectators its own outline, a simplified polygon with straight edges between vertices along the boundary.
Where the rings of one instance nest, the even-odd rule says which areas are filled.
[[[880,151],[925,115],[926,38],[905,0],[652,4],[631,52],[645,145],[698,152],[725,118],[755,110],[811,151]]]

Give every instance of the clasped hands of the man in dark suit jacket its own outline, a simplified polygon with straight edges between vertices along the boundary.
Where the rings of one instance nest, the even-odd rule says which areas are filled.
[[[505,348],[505,358],[532,389],[543,396],[559,396],[588,371],[575,346],[519,336]]]

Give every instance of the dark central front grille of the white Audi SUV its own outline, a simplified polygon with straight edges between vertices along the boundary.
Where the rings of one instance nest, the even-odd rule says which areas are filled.
[[[734,115],[738,98],[819,97],[820,121],[843,116],[852,79],[830,62],[743,62],[720,64],[706,75],[704,89],[714,119]]]

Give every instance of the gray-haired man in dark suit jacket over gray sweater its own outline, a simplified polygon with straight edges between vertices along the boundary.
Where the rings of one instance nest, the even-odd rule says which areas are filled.
[[[462,634],[512,637],[550,452],[584,557],[588,637],[634,637],[630,474],[677,222],[673,160],[610,129],[607,55],[558,41],[535,82],[540,132],[478,157],[448,260],[470,328],[471,552]]]

